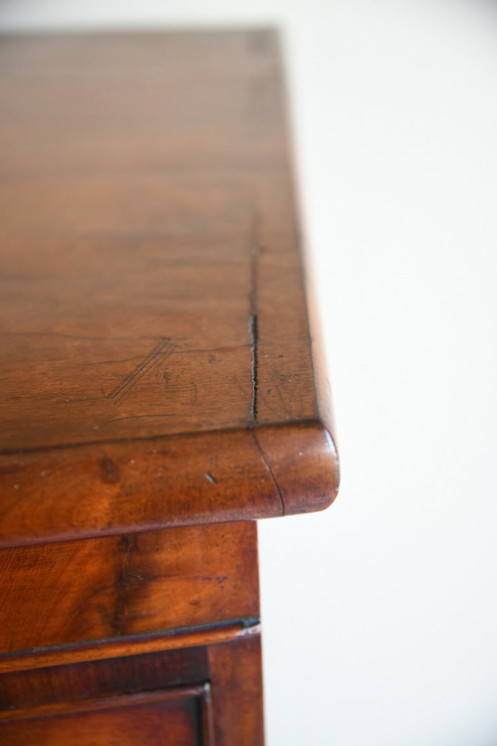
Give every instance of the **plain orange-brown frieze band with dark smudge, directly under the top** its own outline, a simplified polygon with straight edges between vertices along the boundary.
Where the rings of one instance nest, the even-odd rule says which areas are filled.
[[[4,549],[0,651],[253,620],[257,568],[254,522]]]

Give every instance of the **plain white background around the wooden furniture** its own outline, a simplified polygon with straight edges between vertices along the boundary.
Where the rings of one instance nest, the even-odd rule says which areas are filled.
[[[268,746],[497,744],[497,6],[7,0],[3,28],[272,23],[343,480],[259,524]]]

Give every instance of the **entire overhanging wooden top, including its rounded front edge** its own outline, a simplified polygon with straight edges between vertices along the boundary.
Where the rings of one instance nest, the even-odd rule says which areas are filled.
[[[314,392],[276,35],[3,37],[0,100],[4,541],[328,504],[336,454]],[[285,511],[259,435],[297,432],[326,478]],[[197,490],[164,453],[152,479],[152,456],[174,448],[209,452]],[[223,492],[212,459],[230,452],[235,512],[216,495],[207,510]],[[260,466],[264,510],[244,481]],[[69,494],[81,484],[86,517]],[[157,510],[167,489],[183,502]]]

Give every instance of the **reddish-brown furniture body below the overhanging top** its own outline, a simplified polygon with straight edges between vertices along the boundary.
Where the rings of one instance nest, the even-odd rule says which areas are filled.
[[[4,549],[0,576],[0,743],[262,744],[253,521]]]

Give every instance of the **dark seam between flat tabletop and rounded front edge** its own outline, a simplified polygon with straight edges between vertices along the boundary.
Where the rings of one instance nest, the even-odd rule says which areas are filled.
[[[147,417],[148,415],[143,415]],[[141,417],[141,416],[140,416]],[[121,419],[121,418],[120,418]],[[34,448],[5,448],[0,451],[0,456],[23,456],[25,454],[42,454],[49,451],[63,451],[65,448],[88,448],[91,445],[104,448],[106,444],[117,443],[139,443],[152,442],[156,440],[166,440],[168,438],[187,438],[187,437],[205,437],[209,435],[223,435],[224,433],[235,433],[240,430],[252,430],[256,427],[280,427],[282,425],[300,425],[300,424],[318,424],[320,420],[316,417],[302,417],[288,420],[276,420],[274,422],[257,422],[253,424],[236,424],[233,427],[214,427],[209,430],[205,427],[203,430],[179,430],[177,433],[163,433],[158,435],[145,435],[142,437],[133,436],[132,438],[106,438],[105,440],[86,440],[80,443],[57,443],[55,445],[35,446]],[[324,426],[323,426],[324,427]]]

